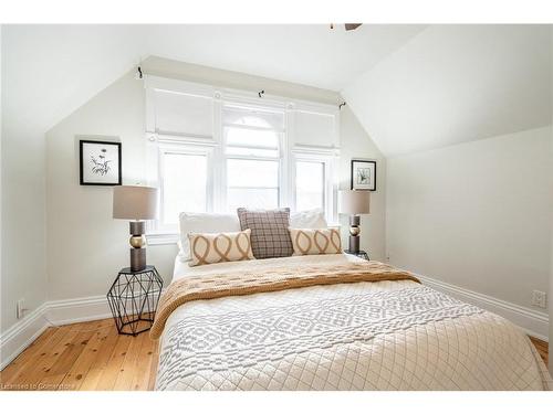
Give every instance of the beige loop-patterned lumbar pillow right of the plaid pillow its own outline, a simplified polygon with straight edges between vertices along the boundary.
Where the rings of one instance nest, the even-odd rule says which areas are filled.
[[[342,253],[337,229],[289,229],[294,256]]]

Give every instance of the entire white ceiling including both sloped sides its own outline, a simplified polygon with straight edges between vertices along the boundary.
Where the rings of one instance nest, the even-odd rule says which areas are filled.
[[[45,132],[157,55],[341,91],[386,155],[551,124],[550,26],[3,25],[2,115]]]

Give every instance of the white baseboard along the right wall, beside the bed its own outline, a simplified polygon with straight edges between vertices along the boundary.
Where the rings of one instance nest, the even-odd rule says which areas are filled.
[[[502,316],[522,328],[522,330],[524,330],[528,335],[547,341],[549,315],[545,312],[498,299],[492,296],[479,294],[473,290],[465,289],[431,277],[417,275],[415,273],[414,275],[417,276],[426,286]]]

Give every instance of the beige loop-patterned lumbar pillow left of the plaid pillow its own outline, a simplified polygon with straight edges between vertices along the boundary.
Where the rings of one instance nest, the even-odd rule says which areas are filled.
[[[188,233],[190,242],[189,266],[220,262],[251,261],[251,230],[233,233]]]

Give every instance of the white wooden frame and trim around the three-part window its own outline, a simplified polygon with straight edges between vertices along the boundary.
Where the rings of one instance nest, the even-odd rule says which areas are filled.
[[[159,81],[160,79],[160,81]],[[295,162],[315,161],[324,164],[325,189],[324,204],[325,215],[328,224],[337,223],[336,194],[338,188],[338,161],[340,161],[340,119],[337,108],[310,102],[292,100],[284,97],[264,96],[257,97],[257,94],[243,91],[221,89],[217,91],[209,85],[197,85],[182,81],[166,79],[147,76],[145,87],[146,93],[146,169],[147,183],[159,189],[159,203],[163,197],[163,155],[176,152],[184,155],[204,155],[208,162],[207,182],[207,212],[225,212],[227,210],[227,160],[228,159],[259,159],[279,160],[279,205],[290,206],[295,211]],[[175,84],[175,85],[174,85]],[[212,93],[213,99],[213,131],[211,136],[194,136],[186,132],[163,132],[155,127],[155,94],[152,89],[160,85],[163,91],[174,88],[176,93],[187,95],[202,92],[202,97]],[[174,86],[173,86],[174,85]],[[199,96],[199,94],[198,94]],[[284,115],[283,130],[279,131],[279,155],[278,157],[257,157],[227,155],[222,123],[223,106],[239,106],[260,112],[282,112]],[[294,114],[296,110],[314,112],[317,114],[331,115],[335,117],[336,139],[328,147],[296,145],[294,137]],[[236,127],[236,126],[234,126]],[[242,128],[242,126],[240,126]],[[243,128],[249,128],[243,126]],[[252,127],[253,128],[253,127]],[[253,128],[257,129],[257,128]],[[276,129],[271,129],[276,130]],[[253,147],[252,147],[253,148]],[[158,204],[160,208],[160,204]],[[161,209],[158,209],[161,211]],[[160,221],[152,221],[148,225],[147,237],[149,244],[173,244],[178,241],[178,226],[164,226]]]

